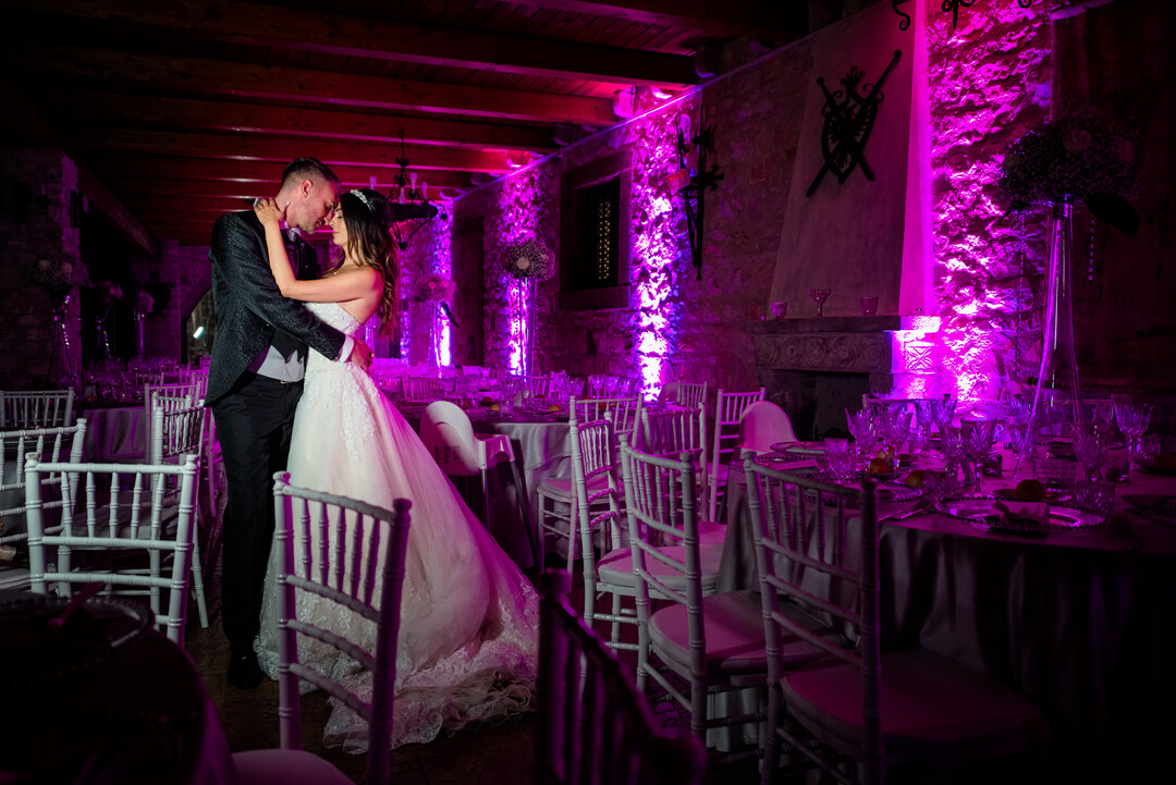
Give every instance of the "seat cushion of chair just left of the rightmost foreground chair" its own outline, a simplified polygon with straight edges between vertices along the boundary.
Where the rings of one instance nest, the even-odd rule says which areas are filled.
[[[702,598],[707,636],[707,675],[768,672],[764,655],[763,612],[759,595],[730,591]],[[690,672],[690,629],[686,605],[674,603],[649,618],[649,642],[667,665],[679,673]],[[761,682],[762,683],[762,682]]]

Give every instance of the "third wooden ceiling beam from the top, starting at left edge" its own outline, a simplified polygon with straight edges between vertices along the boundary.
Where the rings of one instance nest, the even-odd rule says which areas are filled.
[[[616,122],[608,99],[54,43],[14,42],[8,49],[12,66],[25,79],[58,76],[103,89],[138,87],[165,95],[241,95],[541,122]]]

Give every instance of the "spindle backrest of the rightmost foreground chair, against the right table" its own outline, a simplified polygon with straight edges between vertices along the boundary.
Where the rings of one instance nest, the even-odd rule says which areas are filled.
[[[878,526],[874,481],[861,489],[823,483],[744,462],[760,591],[767,635],[768,683],[782,678],[782,642],[802,638],[862,673],[862,747],[867,781],[877,781],[882,763],[878,619]],[[856,508],[856,509],[854,509]],[[850,510],[860,521],[849,526]],[[815,635],[781,603],[800,605],[846,630],[857,646]],[[814,752],[802,750],[814,757]],[[815,758],[818,759],[818,758]],[[869,776],[873,770],[874,777]]]

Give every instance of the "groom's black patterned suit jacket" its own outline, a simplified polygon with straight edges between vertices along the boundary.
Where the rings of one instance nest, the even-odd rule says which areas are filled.
[[[268,260],[265,229],[253,210],[229,213],[216,220],[208,249],[216,337],[205,405],[216,403],[229,391],[273,341],[275,329],[285,330],[332,360],[343,348],[342,333],[319,321],[301,302],[282,296]]]

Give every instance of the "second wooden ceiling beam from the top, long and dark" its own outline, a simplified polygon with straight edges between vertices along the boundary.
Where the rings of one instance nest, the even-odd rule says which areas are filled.
[[[699,81],[693,59],[684,55],[318,9],[206,0],[39,0],[35,11],[167,28],[201,39],[432,66],[626,85]]]

